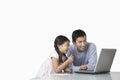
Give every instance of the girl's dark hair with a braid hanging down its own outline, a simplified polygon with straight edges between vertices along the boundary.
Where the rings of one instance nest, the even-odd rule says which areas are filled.
[[[63,36],[63,35],[57,36],[57,37],[55,38],[55,41],[54,41],[54,48],[55,48],[56,52],[57,52],[58,55],[59,55],[59,63],[62,63],[62,62],[64,62],[64,61],[62,60],[62,55],[60,55],[60,51],[59,51],[59,49],[58,49],[57,46],[64,44],[66,41],[69,41],[69,42],[70,42],[70,40],[69,40],[67,37]],[[65,54],[64,54],[64,56],[66,57]],[[67,59],[67,57],[66,57],[66,59]]]

